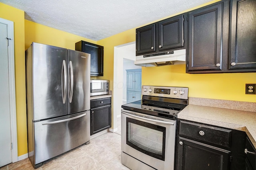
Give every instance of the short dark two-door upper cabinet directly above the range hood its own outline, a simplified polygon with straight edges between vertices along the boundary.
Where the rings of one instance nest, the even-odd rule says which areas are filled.
[[[136,55],[184,49],[184,16],[181,14],[136,29]]]

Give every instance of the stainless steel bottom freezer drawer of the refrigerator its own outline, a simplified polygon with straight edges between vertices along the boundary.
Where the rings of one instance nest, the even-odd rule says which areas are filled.
[[[33,124],[34,152],[30,160],[34,165],[90,141],[90,111]]]

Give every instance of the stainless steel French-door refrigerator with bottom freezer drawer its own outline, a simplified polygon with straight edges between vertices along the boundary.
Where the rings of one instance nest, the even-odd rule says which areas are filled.
[[[90,143],[90,54],[32,43],[26,50],[26,96],[34,168]]]

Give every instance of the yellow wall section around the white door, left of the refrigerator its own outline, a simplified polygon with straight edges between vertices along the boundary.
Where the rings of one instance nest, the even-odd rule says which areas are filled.
[[[0,18],[14,22],[14,63],[16,86],[16,118],[18,155],[26,154],[26,84],[25,84],[25,53],[24,53],[24,11],[0,3]]]

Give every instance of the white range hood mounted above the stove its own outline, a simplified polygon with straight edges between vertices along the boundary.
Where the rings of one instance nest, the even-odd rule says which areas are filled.
[[[137,66],[163,66],[170,64],[185,64],[186,49],[166,51],[162,53],[154,53],[148,55],[136,56],[134,64]]]

